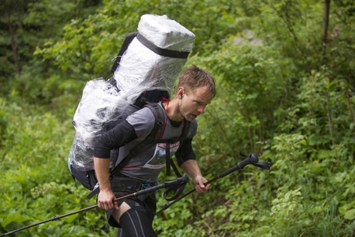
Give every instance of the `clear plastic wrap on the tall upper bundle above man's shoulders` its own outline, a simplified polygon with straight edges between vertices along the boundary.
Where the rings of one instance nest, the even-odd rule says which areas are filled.
[[[195,35],[168,16],[141,16],[138,32],[161,49],[191,52]],[[135,101],[145,90],[166,90],[170,97],[187,58],[158,55],[134,38],[114,73],[119,90]]]

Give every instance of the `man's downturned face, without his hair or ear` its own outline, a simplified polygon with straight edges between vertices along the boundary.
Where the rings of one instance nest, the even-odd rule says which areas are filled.
[[[181,97],[180,112],[187,121],[193,121],[200,114],[205,113],[206,105],[211,103],[213,97],[207,92],[207,86],[190,90]]]

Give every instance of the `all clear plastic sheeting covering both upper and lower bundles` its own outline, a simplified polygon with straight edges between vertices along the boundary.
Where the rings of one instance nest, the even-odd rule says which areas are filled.
[[[143,15],[138,32],[155,46],[174,51],[192,51],[195,40],[192,32],[166,15]],[[185,58],[158,55],[134,38],[114,73],[117,88],[102,78],[86,84],[73,118],[76,133],[69,168],[94,169],[94,142],[137,110],[133,103],[145,91],[164,90],[171,97],[186,62]],[[111,151],[112,165],[117,156],[118,150]]]

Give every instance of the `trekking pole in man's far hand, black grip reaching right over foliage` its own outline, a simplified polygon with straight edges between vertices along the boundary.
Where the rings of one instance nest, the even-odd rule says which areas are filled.
[[[252,164],[253,166],[257,166],[261,169],[267,169],[269,170],[271,168],[271,164],[267,163],[267,162],[259,162],[259,157],[257,154],[252,153],[251,155],[244,155],[242,153],[239,153],[242,157],[246,158],[245,160],[243,160],[242,162],[239,162],[236,166],[232,167],[231,169],[228,169],[227,171],[224,171],[223,173],[220,173],[220,175],[218,175],[217,177],[214,177],[213,179],[209,180],[208,182],[204,183],[204,185],[208,185],[211,184],[213,182],[215,182],[216,180],[225,177],[226,175],[229,175],[231,173],[233,173],[234,171],[237,171],[238,169],[244,169],[244,167],[248,164]],[[163,210],[166,210],[168,208],[170,208],[171,205],[174,205],[174,203],[180,201],[181,199],[183,199],[184,197],[186,197],[187,195],[190,195],[192,192],[194,192],[195,189],[190,190],[189,192],[185,193],[185,195],[175,199],[174,201],[172,201],[169,204],[165,204],[164,207],[159,210],[159,212],[155,213],[155,215],[163,212]],[[166,193],[164,194],[166,195]],[[164,197],[166,198],[166,197]]]

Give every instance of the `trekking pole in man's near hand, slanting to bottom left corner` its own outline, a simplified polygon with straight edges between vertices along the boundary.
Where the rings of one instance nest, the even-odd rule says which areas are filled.
[[[144,193],[147,193],[147,192],[153,192],[153,191],[158,190],[158,189],[161,189],[161,188],[168,188],[168,187],[172,187],[172,186],[179,186],[179,185],[181,185],[181,184],[186,184],[187,182],[189,182],[189,176],[187,176],[187,175],[185,174],[185,175],[183,175],[183,177],[178,177],[177,179],[174,179],[174,180],[172,180],[172,181],[163,182],[163,184],[158,184],[158,185],[153,186],[153,187],[151,187],[151,188],[145,188],[145,189],[139,190],[139,191],[137,191],[137,192],[131,193],[131,194],[129,194],[129,195],[124,195],[124,196],[122,196],[122,197],[118,197],[118,198],[114,199],[112,202],[118,201],[118,200],[121,200],[121,199],[127,199],[127,198],[129,198],[129,197],[135,197],[135,196],[138,196],[138,195],[142,195],[142,194],[144,194]],[[23,229],[28,229],[28,228],[34,227],[34,226],[36,226],[36,225],[41,225],[41,224],[47,223],[47,222],[49,222],[49,221],[57,221],[58,219],[62,219],[62,218],[64,218],[64,217],[66,217],[66,216],[70,216],[70,215],[73,215],[73,214],[77,214],[77,213],[79,213],[79,212],[84,212],[84,211],[86,211],[86,210],[90,210],[90,209],[97,208],[97,207],[98,207],[98,205],[92,205],[92,206],[90,206],[90,207],[88,207],[88,208],[83,208],[83,209],[81,209],[81,210],[77,210],[77,211],[75,211],[75,212],[70,212],[70,213],[64,214],[64,215],[62,215],[62,216],[53,216],[51,219],[48,219],[48,220],[46,220],[46,221],[41,221],[41,222],[39,222],[39,223],[32,224],[32,225],[28,225],[28,226],[22,227],[22,228],[20,228],[20,229],[15,229],[15,230],[13,230],[12,232],[8,232],[8,233],[5,233],[5,234],[1,234],[0,237],[1,237],[1,236],[7,236],[7,235],[9,235],[9,234],[14,234],[14,233],[16,233],[16,232],[20,232],[20,231],[23,230]]]

